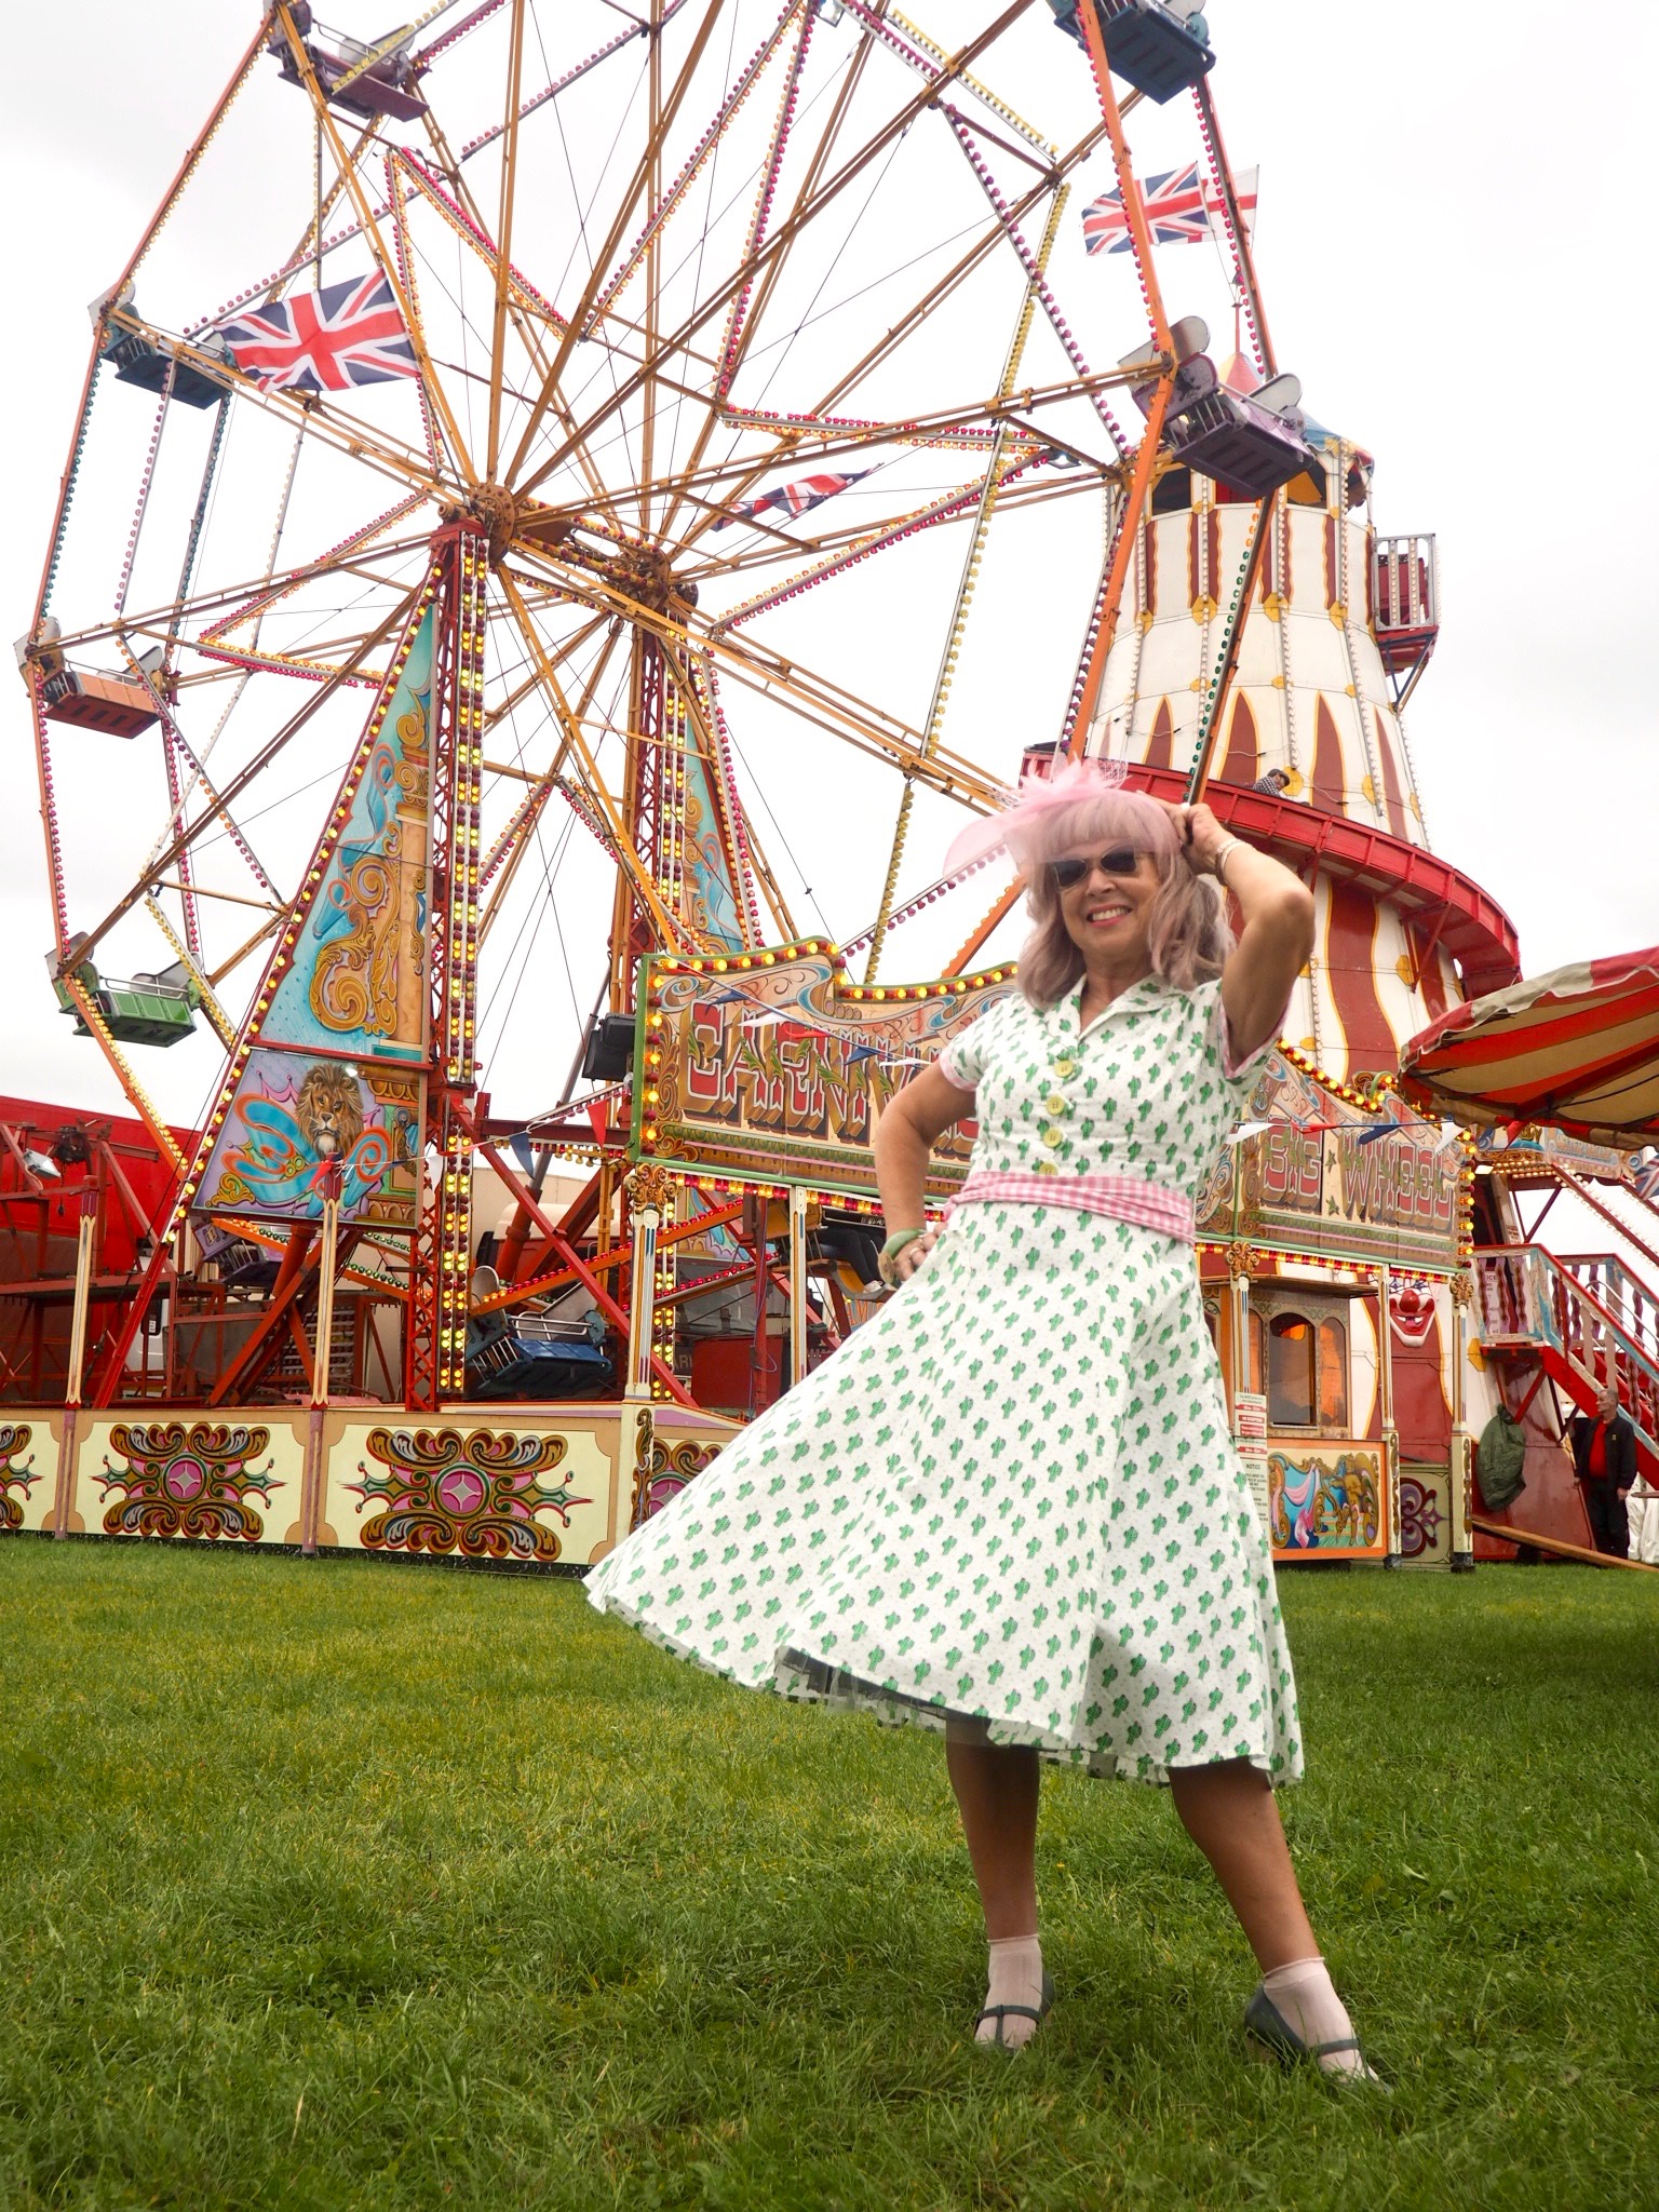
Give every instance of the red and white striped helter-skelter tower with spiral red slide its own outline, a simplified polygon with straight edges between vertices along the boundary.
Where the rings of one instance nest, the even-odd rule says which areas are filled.
[[[1502,909],[1429,849],[1400,703],[1436,630],[1431,538],[1378,540],[1345,440],[1274,493],[1206,799],[1314,885],[1318,940],[1285,1037],[1336,1077],[1515,975]],[[1164,465],[1128,557],[1086,750],[1181,796],[1256,507]],[[1270,770],[1283,794],[1254,792]]]

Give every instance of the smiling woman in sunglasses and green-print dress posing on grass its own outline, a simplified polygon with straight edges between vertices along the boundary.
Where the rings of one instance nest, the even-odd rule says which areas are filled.
[[[1029,783],[951,865],[991,845],[1035,929],[1020,991],[880,1119],[898,1296],[588,1595],[732,1681],[942,1728],[989,1938],[975,2039],[1020,2048],[1053,2000],[1046,1756],[1168,1783],[1263,1969],[1245,2024],[1369,2077],[1272,1796],[1301,1774],[1296,1690],[1192,1252],[1314,902],[1208,807],[1093,763]],[[967,1115],[969,1181],[927,1230],[929,1150]]]

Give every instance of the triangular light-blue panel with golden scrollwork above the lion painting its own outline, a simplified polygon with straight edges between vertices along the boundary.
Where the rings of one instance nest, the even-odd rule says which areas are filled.
[[[265,1044],[416,1064],[427,1051],[431,641],[416,626],[261,1024]]]

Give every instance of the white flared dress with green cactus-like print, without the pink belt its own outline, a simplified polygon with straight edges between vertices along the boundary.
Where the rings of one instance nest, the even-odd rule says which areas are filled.
[[[1197,1197],[1254,1082],[1221,987],[1011,995],[940,1055],[973,1170]],[[989,1723],[1093,1774],[1301,1774],[1267,1537],[1192,1245],[1037,1199],[962,1203],[927,1265],[588,1575],[730,1681]]]

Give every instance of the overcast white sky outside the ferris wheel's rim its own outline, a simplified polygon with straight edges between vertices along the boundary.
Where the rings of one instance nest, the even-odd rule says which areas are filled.
[[[365,35],[389,27],[361,0],[327,13]],[[942,42],[982,15],[949,0],[911,13]],[[86,301],[119,270],[254,20],[246,0],[13,11],[0,84],[7,637],[33,611]],[[1579,9],[1571,53],[1559,7],[1544,4],[1212,0],[1210,24],[1232,159],[1261,164],[1281,365],[1321,420],[1376,453],[1378,524],[1440,540],[1442,641],[1409,717],[1429,836],[1509,909],[1531,971],[1648,945],[1655,11]],[[1037,55],[1068,64],[1046,9],[1029,31]],[[1181,252],[1199,250],[1161,259],[1175,307]],[[1071,664],[1075,637],[1053,650]],[[40,964],[51,927],[15,686],[0,692],[0,1088],[119,1110]]]

